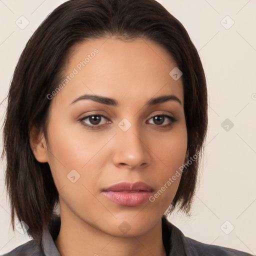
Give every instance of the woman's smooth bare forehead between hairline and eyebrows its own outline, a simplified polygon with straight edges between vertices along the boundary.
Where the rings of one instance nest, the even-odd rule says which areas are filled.
[[[63,72],[66,83],[53,99],[69,104],[83,93],[94,93],[131,103],[168,93],[183,103],[182,79],[169,75],[174,67],[172,56],[153,41],[90,39],[71,48]]]

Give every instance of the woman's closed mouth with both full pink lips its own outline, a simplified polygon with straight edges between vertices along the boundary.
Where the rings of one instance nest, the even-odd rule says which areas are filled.
[[[153,188],[141,181],[120,182],[103,189],[103,194],[108,199],[125,206],[138,206],[148,201],[152,193]]]

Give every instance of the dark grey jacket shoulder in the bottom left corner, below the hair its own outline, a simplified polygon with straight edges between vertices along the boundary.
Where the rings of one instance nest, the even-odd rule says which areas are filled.
[[[1,256],[45,256],[43,252],[40,251],[39,246],[30,240],[23,243],[13,250],[1,255]]]

